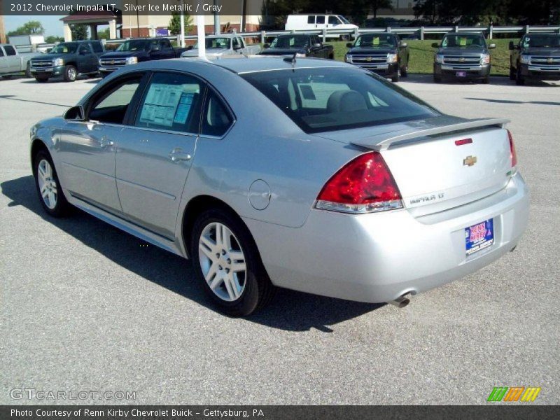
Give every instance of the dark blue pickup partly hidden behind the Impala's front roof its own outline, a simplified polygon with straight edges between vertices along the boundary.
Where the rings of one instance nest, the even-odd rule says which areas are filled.
[[[167,38],[127,39],[113,52],[99,57],[99,72],[103,77],[127,64],[181,57],[187,48],[173,48]]]

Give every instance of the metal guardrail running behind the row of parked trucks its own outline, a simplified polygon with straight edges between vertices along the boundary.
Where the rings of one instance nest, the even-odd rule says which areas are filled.
[[[258,31],[258,32],[239,32],[237,35],[244,38],[260,38],[261,43],[265,43],[266,38],[271,36],[279,36],[283,34],[318,34],[323,38],[323,42],[327,41],[327,38],[340,37],[340,38],[356,38],[360,34],[381,34],[393,32],[399,35],[416,35],[419,39],[424,39],[426,34],[447,34],[447,32],[482,32],[489,39],[493,38],[493,34],[543,34],[543,33],[557,33],[560,34],[560,26],[493,26],[489,25],[487,27],[460,27],[460,26],[449,26],[449,27],[386,27],[386,28],[358,28],[358,29],[313,29],[313,30],[301,30],[301,31]],[[180,35],[172,36],[162,36],[161,38],[167,38],[170,41],[176,41],[178,44],[181,42]],[[118,44],[127,41],[130,38],[118,38],[118,39],[102,39],[104,44]],[[196,35],[186,35],[186,40],[196,40]],[[53,44],[38,44],[38,45],[18,45],[18,50],[20,52],[30,52],[36,50],[36,48],[52,48],[57,43]],[[26,51],[27,50],[27,51]]]

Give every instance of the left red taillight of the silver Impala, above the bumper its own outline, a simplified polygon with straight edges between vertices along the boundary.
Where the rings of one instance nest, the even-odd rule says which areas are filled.
[[[402,208],[397,184],[379,152],[358,156],[334,174],[317,197],[318,209],[370,213]]]

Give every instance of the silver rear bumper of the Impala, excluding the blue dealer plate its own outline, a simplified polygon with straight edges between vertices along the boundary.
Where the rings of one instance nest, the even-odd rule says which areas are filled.
[[[493,245],[467,256],[465,228],[490,218]],[[302,228],[244,221],[276,286],[388,302],[471,274],[514,248],[528,221],[528,190],[516,174],[496,194],[418,218],[406,209],[359,216],[314,209]]]

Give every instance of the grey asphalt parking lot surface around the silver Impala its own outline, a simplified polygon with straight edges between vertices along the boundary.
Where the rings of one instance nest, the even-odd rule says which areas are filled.
[[[10,398],[34,388],[136,392],[88,403],[463,405],[494,386],[560,403],[560,83],[399,83],[445,113],[512,120],[531,189],[516,251],[405,309],[281,290],[235,319],[207,306],[190,262],[80,212],[43,214],[29,127],[97,81],[0,80],[0,404],[52,402]]]

